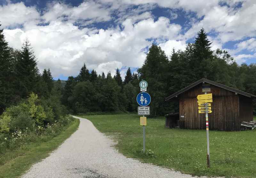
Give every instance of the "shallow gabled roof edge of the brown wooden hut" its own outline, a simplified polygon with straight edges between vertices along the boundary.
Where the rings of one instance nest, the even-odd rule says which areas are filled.
[[[173,97],[178,96],[178,95],[180,95],[181,93],[183,93],[183,92],[185,92],[185,91],[188,91],[189,89],[191,89],[191,88],[195,87],[196,85],[198,85],[198,84],[200,84],[200,83],[203,83],[203,82],[209,83],[209,84],[211,84],[211,85],[215,85],[215,86],[217,86],[217,87],[220,87],[220,88],[223,88],[223,89],[226,89],[226,90],[229,90],[229,91],[233,91],[233,92],[235,92],[235,93],[238,93],[238,94],[240,94],[240,95],[244,95],[244,96],[247,96],[247,97],[256,97],[255,95],[252,95],[252,94],[250,94],[250,93],[246,93],[246,92],[244,92],[244,91],[241,91],[241,90],[238,90],[238,89],[234,89],[234,88],[228,87],[228,86],[226,86],[226,85],[222,85],[222,84],[220,84],[220,83],[213,82],[213,81],[211,81],[211,80],[202,78],[201,80],[198,80],[197,82],[192,83],[191,85],[187,86],[186,88],[181,89],[180,91],[177,91],[176,93],[174,93],[174,94],[172,94],[172,95],[166,97],[166,98],[165,98],[165,101],[168,101],[169,99],[172,99]]]

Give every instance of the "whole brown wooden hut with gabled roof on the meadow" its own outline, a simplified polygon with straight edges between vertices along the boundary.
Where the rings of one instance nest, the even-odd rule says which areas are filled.
[[[208,114],[210,130],[239,131],[242,121],[253,120],[256,96],[203,78],[166,97],[166,101],[179,102],[179,120],[175,115],[168,115],[165,123],[177,122],[180,128],[205,129],[205,114],[198,113],[196,99],[197,95],[204,94],[205,85],[210,87],[207,93],[212,93],[213,100],[212,113]]]

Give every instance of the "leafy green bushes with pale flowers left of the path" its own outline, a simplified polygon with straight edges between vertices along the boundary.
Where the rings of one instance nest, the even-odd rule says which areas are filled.
[[[36,139],[54,137],[74,121],[65,113],[58,97],[41,100],[34,93],[17,106],[7,108],[0,116],[0,154]]]

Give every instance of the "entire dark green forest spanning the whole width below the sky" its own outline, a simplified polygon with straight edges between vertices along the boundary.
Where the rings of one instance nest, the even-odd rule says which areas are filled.
[[[83,64],[79,74],[69,76],[63,88],[60,80],[53,81],[50,69],[40,74],[28,39],[21,49],[13,49],[0,30],[0,112],[18,104],[31,92],[50,99],[53,105],[56,103],[56,111],[65,110],[65,105],[70,113],[136,112],[141,80],[148,82],[152,116],[177,112],[178,103],[165,102],[165,97],[201,78],[255,95],[256,64],[239,65],[227,51],[212,50],[211,44],[202,28],[194,43],[187,44],[185,50],[173,49],[171,56],[152,44],[143,65],[135,73],[128,68],[124,79],[118,68],[112,77],[110,72],[106,75],[94,69],[89,71]]]

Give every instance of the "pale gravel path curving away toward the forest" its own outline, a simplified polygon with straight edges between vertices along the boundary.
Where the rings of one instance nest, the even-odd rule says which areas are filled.
[[[34,164],[23,178],[192,178],[188,174],[126,158],[91,121],[75,118],[80,119],[78,130],[49,157]]]

